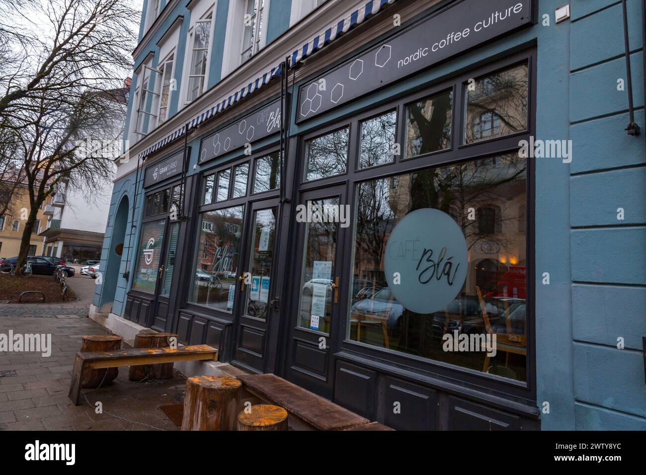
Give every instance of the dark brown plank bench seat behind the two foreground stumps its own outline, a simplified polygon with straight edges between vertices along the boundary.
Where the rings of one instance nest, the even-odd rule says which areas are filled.
[[[269,404],[281,406],[308,428],[344,430],[370,423],[365,417],[275,374],[240,375],[243,388]]]

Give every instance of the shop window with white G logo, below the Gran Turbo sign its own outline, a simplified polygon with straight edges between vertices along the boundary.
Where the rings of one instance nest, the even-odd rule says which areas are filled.
[[[165,219],[149,221],[141,225],[139,255],[132,290],[145,293],[155,292],[165,226]]]

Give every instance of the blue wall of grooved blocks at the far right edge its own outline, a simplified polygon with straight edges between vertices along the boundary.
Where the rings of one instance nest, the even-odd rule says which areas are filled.
[[[618,1],[574,1],[570,26],[572,367],[577,429],[644,430],[646,150],[641,10],[627,1],[636,121],[629,136]],[[601,34],[603,32],[603,34]],[[625,84],[625,87],[627,85]],[[623,220],[618,220],[623,208]],[[618,348],[623,339],[623,349]],[[561,425],[556,424],[557,427]]]

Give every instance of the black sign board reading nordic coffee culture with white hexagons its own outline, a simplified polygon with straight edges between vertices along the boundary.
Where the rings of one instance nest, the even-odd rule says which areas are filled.
[[[297,122],[529,25],[533,0],[462,0],[298,90]]]

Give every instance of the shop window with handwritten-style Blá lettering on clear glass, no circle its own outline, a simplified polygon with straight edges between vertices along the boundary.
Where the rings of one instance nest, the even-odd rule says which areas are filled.
[[[200,213],[191,302],[231,313],[244,206]]]

